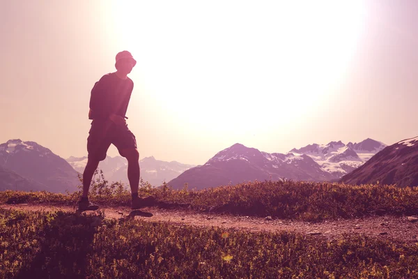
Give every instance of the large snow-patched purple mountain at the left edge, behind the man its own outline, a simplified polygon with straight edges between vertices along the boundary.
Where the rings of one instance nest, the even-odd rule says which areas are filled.
[[[54,193],[73,192],[80,184],[77,172],[67,161],[36,142],[8,140],[0,144],[0,165]]]

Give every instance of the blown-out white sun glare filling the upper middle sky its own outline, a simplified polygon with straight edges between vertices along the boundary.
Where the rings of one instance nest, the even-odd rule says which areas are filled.
[[[361,0],[112,3],[141,93],[213,132],[288,128],[326,109],[366,15]]]

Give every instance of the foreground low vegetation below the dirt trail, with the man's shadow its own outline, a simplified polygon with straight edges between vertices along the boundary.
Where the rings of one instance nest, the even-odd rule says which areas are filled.
[[[0,278],[418,278],[418,246],[0,209]]]

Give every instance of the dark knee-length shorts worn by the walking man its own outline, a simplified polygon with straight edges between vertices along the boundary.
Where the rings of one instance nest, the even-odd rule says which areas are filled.
[[[121,153],[122,149],[137,149],[137,140],[129,128],[116,127],[110,120],[93,120],[87,137],[88,158],[102,161],[106,158],[107,149],[114,144]]]

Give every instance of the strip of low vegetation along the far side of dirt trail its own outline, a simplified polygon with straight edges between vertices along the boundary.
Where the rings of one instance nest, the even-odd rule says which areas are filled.
[[[127,206],[130,190],[121,183],[109,183],[103,174],[95,176],[90,199],[104,206]],[[4,191],[0,203],[48,203],[75,205],[81,192]],[[246,216],[272,216],[320,221],[358,218],[373,214],[415,215],[418,188],[302,181],[254,181],[206,190],[173,190],[167,184],[153,188],[141,181],[139,195],[153,195],[156,206],[188,207],[199,211]]]

